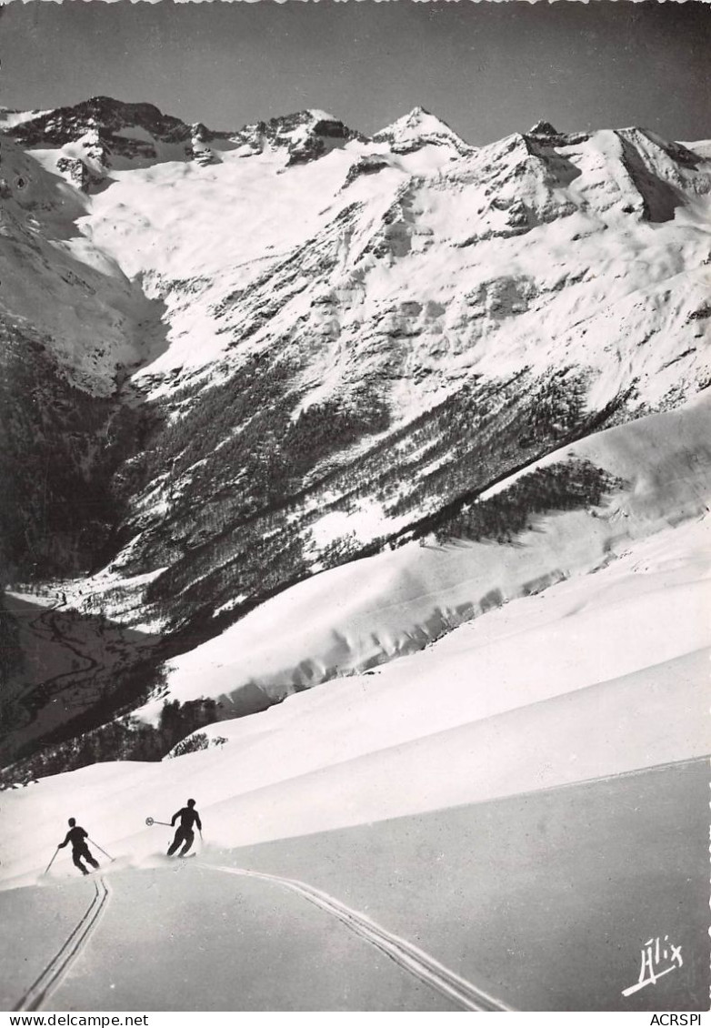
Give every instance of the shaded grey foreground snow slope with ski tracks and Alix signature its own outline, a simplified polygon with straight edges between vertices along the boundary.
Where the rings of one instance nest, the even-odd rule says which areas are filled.
[[[0,1002],[703,1009],[705,763],[236,851],[207,845],[153,868],[104,859],[88,880],[60,858],[42,885],[0,891]],[[170,830],[153,831],[159,847]],[[683,962],[625,998],[660,923]]]

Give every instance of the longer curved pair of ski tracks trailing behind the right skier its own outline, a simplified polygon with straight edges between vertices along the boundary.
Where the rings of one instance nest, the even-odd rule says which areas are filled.
[[[361,939],[375,946],[376,949],[385,953],[405,970],[410,971],[425,985],[436,989],[442,995],[447,996],[464,1011],[512,1011],[514,1007],[507,1006],[499,999],[488,995],[479,989],[465,978],[455,971],[445,967],[444,964],[429,956],[419,947],[414,946],[400,935],[394,934],[381,925],[371,921],[365,914],[351,910],[339,900],[323,892],[321,889],[307,885],[305,882],[292,878],[280,878],[278,875],[267,875],[257,871],[247,871],[242,868],[226,868],[214,864],[203,864],[203,868],[212,871],[224,872],[228,875],[241,875],[249,878],[260,878],[267,882],[273,882],[292,892],[298,893],[308,903],[320,907],[327,913],[337,917],[347,928],[353,931]]]

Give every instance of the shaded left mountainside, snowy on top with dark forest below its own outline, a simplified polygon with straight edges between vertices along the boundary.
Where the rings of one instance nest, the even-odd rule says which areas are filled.
[[[10,139],[0,172],[6,582],[77,574],[110,556],[121,511],[109,481],[141,424],[127,378],[164,332],[161,304],[77,234],[80,192]]]

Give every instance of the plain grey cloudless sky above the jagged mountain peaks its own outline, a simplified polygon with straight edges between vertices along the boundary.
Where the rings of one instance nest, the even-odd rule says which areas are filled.
[[[306,107],[371,134],[421,105],[482,145],[546,118],[711,138],[711,4],[20,0],[0,103],[148,102],[213,128]]]

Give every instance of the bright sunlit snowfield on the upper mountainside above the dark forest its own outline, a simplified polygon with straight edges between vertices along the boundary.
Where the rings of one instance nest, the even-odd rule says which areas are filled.
[[[708,193],[703,157],[640,130],[473,150],[416,109],[303,166],[276,147],[117,171],[80,227],[167,305],[170,348],[142,374],[240,363],[302,322],[313,381],[383,366],[377,343],[412,416],[474,370],[561,360],[595,368],[598,406],[633,368],[639,399],[663,401],[706,367]],[[279,271],[302,249],[295,290]],[[249,325],[232,298],[265,278],[283,309],[230,354]]]

